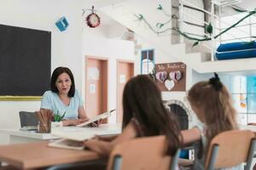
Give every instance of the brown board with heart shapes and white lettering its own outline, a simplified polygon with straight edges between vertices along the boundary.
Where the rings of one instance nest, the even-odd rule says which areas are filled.
[[[182,62],[155,64],[156,83],[161,91],[186,90],[186,65]]]

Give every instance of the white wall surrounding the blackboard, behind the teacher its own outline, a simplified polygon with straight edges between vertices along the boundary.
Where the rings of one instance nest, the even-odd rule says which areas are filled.
[[[74,74],[76,87],[82,86],[82,26],[80,0],[1,0],[0,24],[20,26],[52,32],[51,69],[59,65],[69,67]],[[66,16],[67,31],[58,31],[55,21]],[[15,77],[10,77],[15,78]],[[0,128],[20,127],[19,111],[37,111],[39,101],[0,101]],[[0,144],[9,139],[0,134]]]

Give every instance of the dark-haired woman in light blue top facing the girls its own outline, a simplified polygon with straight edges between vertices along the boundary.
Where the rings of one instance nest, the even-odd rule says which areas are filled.
[[[75,89],[70,69],[55,68],[50,80],[50,90],[43,95],[41,109],[49,109],[59,115],[65,113],[63,126],[77,125],[89,120],[84,111],[84,103]]]

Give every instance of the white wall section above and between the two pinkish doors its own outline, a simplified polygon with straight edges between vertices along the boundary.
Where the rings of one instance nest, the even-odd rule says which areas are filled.
[[[108,39],[102,32],[106,28],[89,28],[84,26],[83,31],[83,83],[86,78],[84,70],[85,56],[108,58],[108,110],[116,109],[117,89],[117,59],[134,61],[134,43],[125,40]],[[137,65],[135,65],[137,70]],[[135,73],[136,74],[136,73]],[[83,85],[84,87],[84,85]],[[85,96],[83,88],[83,96]],[[85,101],[86,106],[86,101]],[[89,113],[88,113],[89,114]],[[111,116],[108,121],[115,122],[116,116]]]

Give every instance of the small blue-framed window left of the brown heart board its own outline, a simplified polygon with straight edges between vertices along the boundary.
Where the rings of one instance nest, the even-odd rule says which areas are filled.
[[[141,74],[148,74],[154,69],[154,49],[143,50],[141,59]]]

